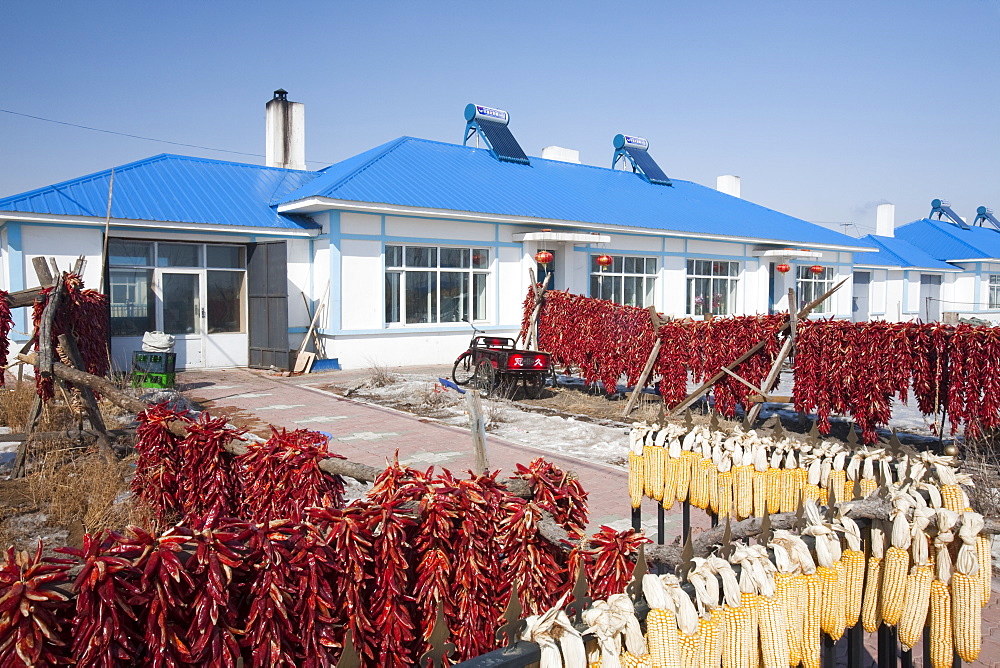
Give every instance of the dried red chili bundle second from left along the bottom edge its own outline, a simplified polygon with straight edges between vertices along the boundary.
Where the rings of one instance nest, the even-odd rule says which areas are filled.
[[[119,543],[117,533],[84,534],[83,547],[57,548],[82,564],[73,583],[72,658],[77,666],[138,663],[144,653],[137,610],[148,603],[140,591],[142,571],[134,565],[141,553]]]

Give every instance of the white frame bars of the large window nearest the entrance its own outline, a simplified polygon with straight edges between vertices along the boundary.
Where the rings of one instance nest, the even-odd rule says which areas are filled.
[[[392,251],[391,249],[399,249]],[[410,250],[431,249],[434,255],[433,265],[408,264]],[[442,251],[463,251],[465,258],[461,261],[466,266],[448,267],[442,266]],[[486,254],[485,264],[477,262],[478,253]],[[390,264],[390,254],[398,255],[398,264]],[[415,254],[414,254],[415,255]],[[386,328],[413,328],[413,327],[435,327],[441,325],[457,325],[465,322],[468,318],[473,323],[487,324],[490,322],[491,299],[489,297],[490,285],[492,284],[494,260],[496,250],[493,247],[483,246],[450,246],[420,243],[385,243],[382,247],[382,324]],[[479,266],[477,266],[479,265]],[[418,273],[432,274],[433,299],[428,299],[428,311],[433,310],[433,318],[423,322],[408,322],[411,314],[408,306],[411,298],[407,296],[410,286],[408,276]],[[442,315],[446,312],[443,307],[444,301],[448,299],[443,295],[441,280],[442,275],[461,275],[460,293],[452,299],[459,299],[459,313],[457,320],[442,320]],[[394,278],[390,278],[394,277]],[[428,294],[430,297],[430,293]]]

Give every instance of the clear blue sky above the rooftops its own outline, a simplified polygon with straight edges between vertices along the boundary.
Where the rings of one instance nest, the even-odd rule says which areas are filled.
[[[529,155],[610,166],[646,137],[672,178],[873,231],[930,200],[1000,210],[1000,0],[82,2],[7,0],[0,108],[262,154],[276,88],[320,168],[401,135],[460,143],[468,102]],[[0,113],[0,196],[158,153]],[[834,226],[838,230],[844,228]]]

